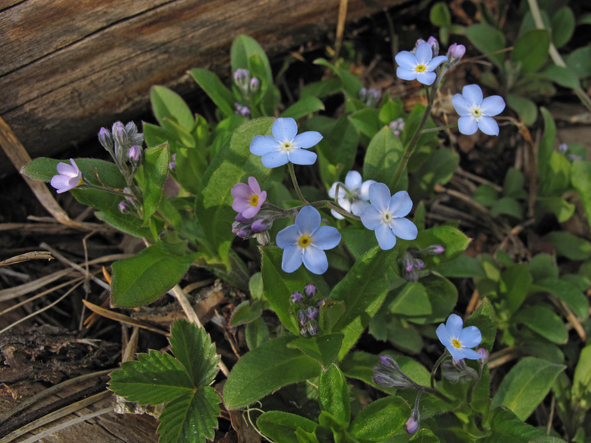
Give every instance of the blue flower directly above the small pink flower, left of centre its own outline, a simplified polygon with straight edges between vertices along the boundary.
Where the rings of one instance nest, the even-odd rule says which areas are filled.
[[[322,140],[321,133],[307,131],[298,135],[298,124],[292,118],[279,118],[273,123],[273,137],[256,135],[250,142],[250,152],[261,156],[263,165],[268,168],[286,165],[311,165],[316,161],[316,153],[305,151]]]

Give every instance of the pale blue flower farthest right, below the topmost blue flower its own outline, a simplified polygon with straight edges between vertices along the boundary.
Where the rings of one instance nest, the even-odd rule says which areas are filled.
[[[462,134],[472,135],[478,129],[487,135],[499,135],[499,125],[492,116],[505,109],[505,101],[499,95],[483,100],[483,90],[478,85],[466,85],[462,94],[455,94],[451,103],[460,115],[458,129]]]

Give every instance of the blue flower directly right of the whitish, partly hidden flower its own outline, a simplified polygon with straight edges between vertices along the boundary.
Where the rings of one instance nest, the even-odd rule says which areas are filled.
[[[405,219],[412,209],[412,200],[408,192],[396,192],[390,197],[390,190],[384,183],[373,183],[369,187],[371,205],[361,213],[363,226],[375,231],[380,248],[392,249],[396,245],[396,237],[403,240],[414,240],[419,230],[413,222]]]

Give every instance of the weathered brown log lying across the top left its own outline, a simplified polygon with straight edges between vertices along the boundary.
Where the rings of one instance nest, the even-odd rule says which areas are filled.
[[[403,0],[349,0],[355,20]],[[270,56],[336,28],[339,0],[6,0],[0,115],[35,156],[145,112],[149,87],[196,87],[186,70],[229,75],[236,35]],[[0,177],[12,165],[0,153]]]

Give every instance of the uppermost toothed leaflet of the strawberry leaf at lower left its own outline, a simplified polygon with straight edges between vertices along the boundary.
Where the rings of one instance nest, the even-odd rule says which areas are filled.
[[[191,375],[194,386],[210,385],[218,374],[220,358],[216,356],[216,345],[197,324],[175,321],[170,328],[170,350]]]

